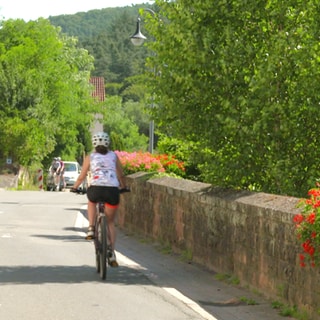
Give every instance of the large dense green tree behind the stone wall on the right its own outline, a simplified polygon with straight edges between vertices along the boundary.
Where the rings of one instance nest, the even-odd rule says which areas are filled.
[[[320,156],[319,3],[155,3],[143,18],[162,132],[196,144],[204,181],[304,195]]]

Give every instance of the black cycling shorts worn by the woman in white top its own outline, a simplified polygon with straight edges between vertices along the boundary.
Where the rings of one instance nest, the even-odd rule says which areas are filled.
[[[87,197],[94,203],[103,202],[110,206],[117,206],[120,202],[120,191],[118,187],[90,186]]]

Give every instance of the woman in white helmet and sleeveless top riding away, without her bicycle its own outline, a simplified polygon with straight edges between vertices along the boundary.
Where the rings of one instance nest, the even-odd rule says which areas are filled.
[[[120,188],[126,187],[125,176],[118,156],[109,150],[110,138],[106,132],[94,134],[92,144],[94,151],[86,156],[81,173],[71,191],[79,188],[90,170],[91,182],[87,190],[89,228],[86,239],[91,240],[94,237],[96,204],[104,202],[110,236],[109,245],[112,253],[108,263],[111,267],[118,267],[114,253],[116,240],[115,216],[120,202]]]

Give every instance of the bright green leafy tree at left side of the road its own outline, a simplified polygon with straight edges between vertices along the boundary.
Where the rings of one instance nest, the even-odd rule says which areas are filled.
[[[76,43],[45,19],[2,22],[2,156],[24,166],[40,164],[55,149],[77,156],[77,135],[89,130],[96,110],[89,84],[93,58]]]

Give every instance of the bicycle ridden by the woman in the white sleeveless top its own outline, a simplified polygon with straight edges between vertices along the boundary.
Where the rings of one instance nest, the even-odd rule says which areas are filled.
[[[71,190],[78,194],[85,194],[83,190]],[[120,193],[130,192],[130,188],[120,189]],[[104,213],[104,203],[97,203],[97,212],[94,224],[94,248],[96,258],[96,270],[100,278],[105,280],[107,277],[108,259],[112,256],[111,248],[108,246],[108,223]]]

